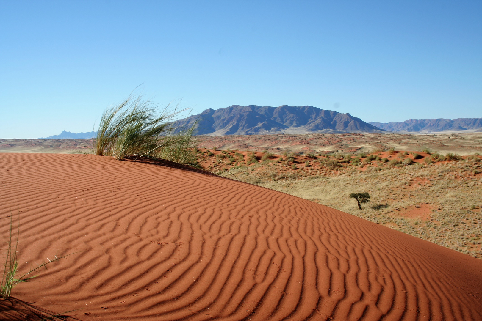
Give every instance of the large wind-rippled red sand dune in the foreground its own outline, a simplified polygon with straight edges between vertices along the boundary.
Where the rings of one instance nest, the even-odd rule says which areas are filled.
[[[14,288],[42,308],[81,320],[482,320],[481,260],[323,205],[102,156],[0,164],[0,232],[20,213],[20,270],[81,251]]]

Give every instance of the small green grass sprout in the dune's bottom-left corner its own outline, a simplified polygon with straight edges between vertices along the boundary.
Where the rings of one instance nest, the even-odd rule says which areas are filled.
[[[13,287],[18,283],[27,282],[39,276],[38,274],[31,275],[33,272],[39,273],[41,268],[45,268],[45,269],[47,268],[46,267],[47,264],[58,261],[61,258],[67,257],[67,256],[63,256],[63,257],[55,256],[55,258],[52,260],[47,258],[48,262],[43,262],[42,264],[39,264],[35,269],[31,269],[27,273],[22,274],[21,276],[17,276],[17,273],[18,273],[17,247],[18,247],[19,234],[20,234],[20,218],[19,218],[19,224],[17,225],[17,231],[15,233],[13,231],[13,219],[12,219],[12,216],[10,216],[10,235],[8,237],[8,242],[7,242],[8,247],[6,251],[5,263],[3,264],[4,270],[3,270],[3,275],[1,279],[1,285],[0,285],[0,297],[2,299],[9,298]]]

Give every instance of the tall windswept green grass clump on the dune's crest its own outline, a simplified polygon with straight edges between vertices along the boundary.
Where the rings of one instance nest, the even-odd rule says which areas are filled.
[[[175,121],[184,111],[171,104],[159,108],[142,95],[131,94],[102,114],[94,153],[119,160],[147,156],[200,167],[193,138],[197,124],[184,128]]]

